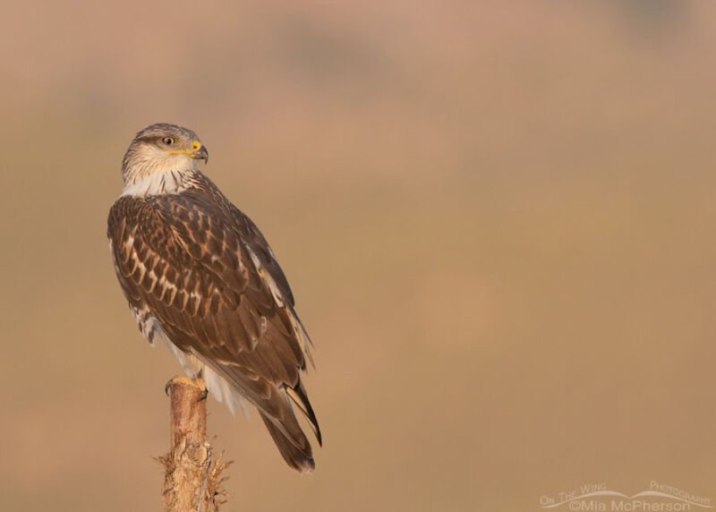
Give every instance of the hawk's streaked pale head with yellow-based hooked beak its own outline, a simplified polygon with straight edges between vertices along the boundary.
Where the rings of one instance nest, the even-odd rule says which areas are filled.
[[[124,154],[124,184],[163,171],[190,171],[196,160],[209,161],[209,151],[191,130],[176,124],[150,124],[137,133]]]

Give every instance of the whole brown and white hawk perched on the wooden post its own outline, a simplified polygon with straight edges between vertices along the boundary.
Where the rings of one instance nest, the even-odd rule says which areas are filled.
[[[321,444],[301,381],[311,340],[268,242],[197,160],[209,152],[182,126],[151,124],[134,137],[107,219],[119,284],[151,345],[164,341],[232,414],[243,399],[254,405],[286,463],[311,471],[294,410]]]

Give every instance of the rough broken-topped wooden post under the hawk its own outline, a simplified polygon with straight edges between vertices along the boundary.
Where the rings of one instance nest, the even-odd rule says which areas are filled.
[[[171,448],[165,466],[165,512],[215,512],[222,501],[219,478],[228,464],[214,460],[207,440],[206,388],[201,379],[175,377],[166,385],[171,402]]]

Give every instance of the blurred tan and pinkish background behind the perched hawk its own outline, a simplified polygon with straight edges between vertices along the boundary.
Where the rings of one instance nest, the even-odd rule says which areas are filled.
[[[315,474],[209,400],[226,510],[716,498],[712,4],[3,12],[0,508],[159,508],[179,366],[105,236],[155,122],[200,134],[316,346]]]

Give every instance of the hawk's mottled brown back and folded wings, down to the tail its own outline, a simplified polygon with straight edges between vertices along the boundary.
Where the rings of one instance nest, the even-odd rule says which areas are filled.
[[[178,348],[260,409],[274,439],[283,434],[292,447],[277,441],[290,465],[312,466],[288,400],[320,442],[300,380],[310,341],[286,277],[251,220],[217,191],[122,197],[110,210],[107,235],[129,302],[146,304]]]

